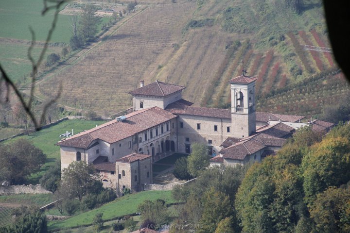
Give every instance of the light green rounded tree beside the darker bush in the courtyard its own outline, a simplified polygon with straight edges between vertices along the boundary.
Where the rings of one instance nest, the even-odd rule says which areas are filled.
[[[192,153],[188,156],[188,171],[193,177],[197,177],[209,166],[207,147],[204,144],[193,143]]]

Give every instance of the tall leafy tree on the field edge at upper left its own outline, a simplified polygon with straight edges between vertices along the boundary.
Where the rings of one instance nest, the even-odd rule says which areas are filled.
[[[101,18],[95,16],[96,11],[97,9],[92,4],[87,4],[83,8],[83,13],[80,18],[80,32],[86,41],[94,39],[98,25],[101,23]]]

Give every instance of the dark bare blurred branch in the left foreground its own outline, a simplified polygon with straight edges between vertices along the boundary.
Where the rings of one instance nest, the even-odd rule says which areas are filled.
[[[30,86],[30,96],[29,96],[29,100],[26,101],[24,100],[22,94],[19,92],[18,87],[16,86],[16,84],[11,80],[11,78],[8,76],[8,74],[6,73],[6,71],[4,70],[4,68],[1,66],[0,64],[0,71],[1,71],[1,78],[0,78],[0,84],[2,84],[2,82],[4,82],[5,84],[5,103],[9,102],[10,100],[10,88],[12,88],[15,92],[15,95],[18,97],[20,103],[22,104],[24,110],[26,111],[26,113],[28,114],[28,116],[30,117],[30,119],[32,120],[35,130],[40,130],[41,129],[41,124],[45,119],[45,115],[46,115],[46,111],[47,109],[56,101],[58,100],[58,98],[60,97],[61,94],[61,89],[62,89],[62,85],[60,85],[60,88],[57,92],[57,95],[49,100],[43,108],[43,112],[41,113],[41,116],[37,117],[35,116],[34,112],[32,111],[32,104],[33,104],[33,100],[34,100],[34,91],[35,91],[35,81],[36,81],[36,75],[37,75],[37,70],[38,67],[40,66],[40,64],[42,63],[43,59],[44,59],[44,55],[45,52],[48,48],[48,44],[51,40],[53,31],[56,27],[56,23],[57,23],[57,19],[58,19],[58,13],[60,11],[61,6],[67,2],[69,0],[43,0],[44,3],[44,9],[41,12],[41,15],[44,16],[48,11],[50,10],[54,10],[54,18],[51,24],[51,28],[48,32],[48,35],[46,37],[45,40],[45,44],[43,49],[40,52],[39,58],[37,59],[37,61],[35,61],[35,59],[32,56],[32,50],[35,46],[35,33],[33,31],[32,28],[29,28],[31,34],[32,34],[32,43],[28,49],[28,59],[30,60],[31,64],[32,64],[32,73],[31,73],[31,86]],[[52,4],[52,5],[49,5]],[[40,120],[38,121],[38,119],[40,118]]]

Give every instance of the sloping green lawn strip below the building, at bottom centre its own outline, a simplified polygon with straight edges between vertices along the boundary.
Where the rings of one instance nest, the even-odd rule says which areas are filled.
[[[96,213],[104,213],[103,219],[108,220],[114,217],[133,214],[137,212],[138,205],[143,200],[165,200],[166,203],[174,203],[171,191],[143,191],[126,195],[115,201],[109,202],[100,208],[72,216],[64,221],[52,221],[48,223],[48,229],[62,229],[81,225],[91,224]]]

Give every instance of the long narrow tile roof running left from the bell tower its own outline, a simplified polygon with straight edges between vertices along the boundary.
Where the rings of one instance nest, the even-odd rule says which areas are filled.
[[[176,115],[208,116],[231,119],[231,110],[229,109],[192,107],[178,101],[169,104],[165,109]]]

